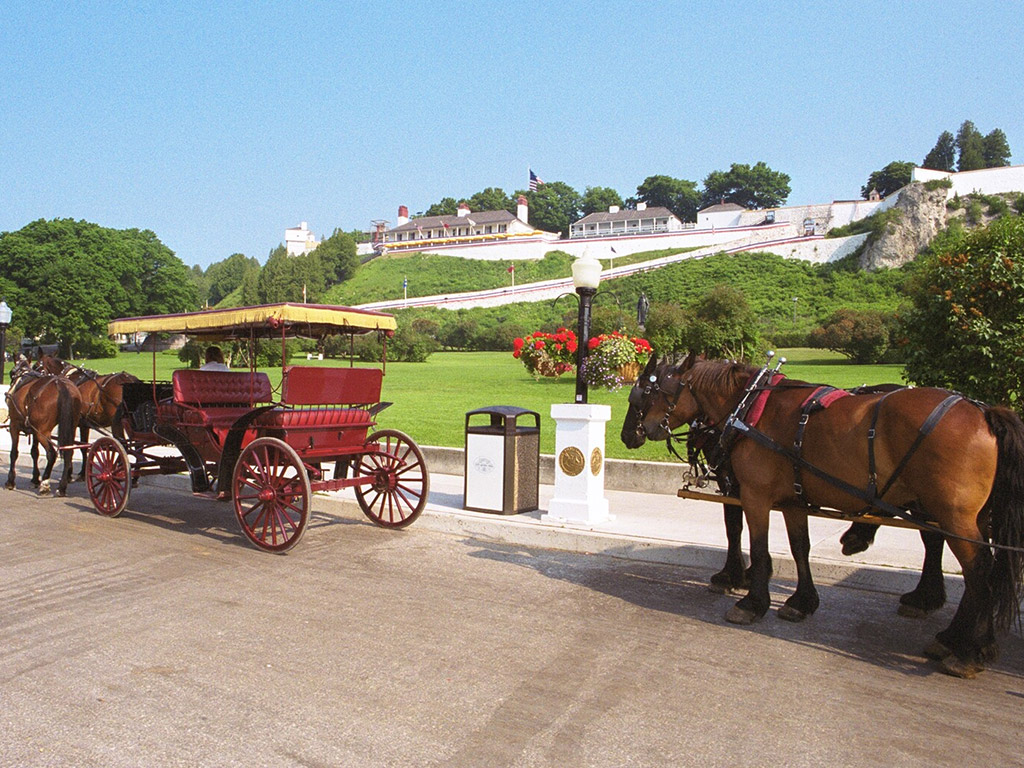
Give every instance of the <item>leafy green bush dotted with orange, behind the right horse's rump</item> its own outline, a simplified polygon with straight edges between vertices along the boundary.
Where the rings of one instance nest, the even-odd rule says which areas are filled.
[[[907,379],[1024,413],[1024,219],[950,226],[919,261]]]

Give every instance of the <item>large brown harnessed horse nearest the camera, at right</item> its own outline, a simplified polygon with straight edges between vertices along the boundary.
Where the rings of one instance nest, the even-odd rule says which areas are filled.
[[[801,621],[818,595],[806,507],[913,512],[946,537],[965,593],[926,653],[972,677],[997,651],[995,630],[1020,615],[1024,569],[1024,423],[1013,411],[944,390],[907,388],[843,397],[799,426],[806,382],[728,361],[690,360],[649,374],[638,409],[646,437],[682,424],[722,429],[751,537],[751,587],[726,614],[750,624],[768,610],[769,512],[784,506],[798,584],[779,616]],[[650,379],[650,377],[654,377]],[[776,380],[777,379],[777,380]],[[761,394],[761,397],[756,395]],[[756,425],[750,404],[759,401]],[[797,443],[800,447],[797,447]]]

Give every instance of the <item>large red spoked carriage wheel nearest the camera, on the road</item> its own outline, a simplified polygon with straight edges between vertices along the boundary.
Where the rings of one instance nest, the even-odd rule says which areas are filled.
[[[276,437],[253,440],[231,479],[234,516],[250,542],[267,552],[299,543],[309,519],[309,477],[295,450]]]

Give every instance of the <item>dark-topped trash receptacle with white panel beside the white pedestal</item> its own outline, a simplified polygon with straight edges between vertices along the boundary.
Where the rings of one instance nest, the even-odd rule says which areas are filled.
[[[523,417],[532,417],[532,424],[520,424]],[[540,485],[539,413],[490,406],[466,414],[464,509],[502,515],[529,512],[540,506]]]

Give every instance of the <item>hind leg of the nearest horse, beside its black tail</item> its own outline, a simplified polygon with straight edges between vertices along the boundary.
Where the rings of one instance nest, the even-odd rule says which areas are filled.
[[[980,534],[963,536],[976,539]],[[936,641],[925,649],[925,655],[941,660],[942,671],[948,675],[973,678],[985,668],[985,662],[998,653],[988,585],[992,555],[987,549],[956,539],[949,540],[949,549],[964,570],[964,597],[952,622],[935,636]]]

